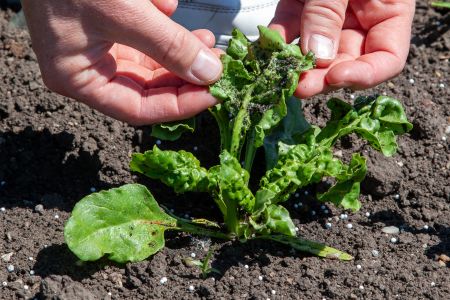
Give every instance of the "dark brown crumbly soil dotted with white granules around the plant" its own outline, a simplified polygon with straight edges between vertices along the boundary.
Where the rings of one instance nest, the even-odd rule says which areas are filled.
[[[387,93],[404,103],[414,124],[392,158],[353,136],[337,145],[339,155],[361,152],[368,158],[362,210],[348,213],[347,220],[333,206],[326,213],[312,196],[320,186],[301,190],[286,203],[299,234],[347,251],[353,261],[319,259],[268,242],[168,233],[162,251],[126,265],[106,259],[82,263],[64,244],[70,211],[94,189],[143,182],[175,214],[216,220],[220,214],[205,195],[175,195],[131,174],[130,154],[156,142],[150,129],[51,93],[42,84],[27,32],[7,25],[13,16],[0,10],[0,207],[5,208],[0,255],[12,253],[0,260],[1,299],[450,299],[448,11],[419,1],[402,74],[372,90],[334,94],[351,101],[355,95]],[[304,102],[310,122],[327,120],[328,97]],[[187,149],[204,165],[214,164],[217,129],[208,114],[200,123],[196,134],[161,147]],[[303,206],[296,209],[298,202]],[[400,232],[386,234],[386,226]],[[221,274],[204,279],[183,261],[191,253],[204,257],[208,247],[216,249],[212,265]],[[167,283],[160,283],[162,277]]]

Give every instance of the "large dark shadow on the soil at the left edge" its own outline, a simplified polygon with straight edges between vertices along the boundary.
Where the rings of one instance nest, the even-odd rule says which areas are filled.
[[[31,127],[0,132],[0,205],[57,207],[69,211],[99,180],[97,152],[80,148],[67,132],[52,134]]]

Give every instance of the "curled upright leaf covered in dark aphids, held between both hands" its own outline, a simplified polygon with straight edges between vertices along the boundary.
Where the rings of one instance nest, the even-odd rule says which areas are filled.
[[[222,77],[210,86],[211,94],[222,100],[220,109],[211,110],[221,135],[227,135],[222,136],[222,149],[240,160],[247,139],[247,170],[265,136],[286,116],[285,102],[294,93],[300,73],[314,66],[311,53],[304,56],[278,32],[263,26],[258,29],[260,38],[252,43],[239,30],[233,32],[227,54],[221,58]]]

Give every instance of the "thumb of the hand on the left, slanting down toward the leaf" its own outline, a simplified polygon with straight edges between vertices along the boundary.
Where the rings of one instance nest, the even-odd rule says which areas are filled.
[[[181,78],[200,85],[216,81],[222,63],[199,38],[147,0],[118,1],[121,18],[105,18],[109,39],[138,49]],[[104,29],[104,30],[105,30]]]

